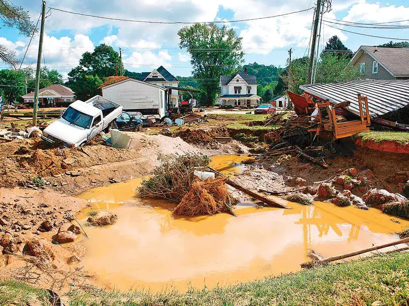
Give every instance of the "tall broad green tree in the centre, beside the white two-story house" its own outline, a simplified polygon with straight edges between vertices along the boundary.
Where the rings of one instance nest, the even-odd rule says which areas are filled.
[[[186,49],[192,58],[192,74],[198,88],[206,94],[200,102],[212,105],[220,93],[220,75],[230,74],[244,61],[242,38],[234,29],[214,23],[195,23],[181,28],[177,34],[180,48]]]

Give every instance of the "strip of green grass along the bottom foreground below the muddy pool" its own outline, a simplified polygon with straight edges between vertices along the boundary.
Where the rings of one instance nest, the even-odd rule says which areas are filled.
[[[230,287],[189,289],[179,293],[148,291],[71,291],[64,297],[71,306],[98,305],[407,305],[409,302],[409,252],[376,255],[343,264],[303,270],[280,277],[267,277]],[[62,292],[58,292],[62,295]],[[44,291],[21,283],[0,283],[0,304],[18,297],[43,297]],[[68,304],[68,303],[67,303]]]

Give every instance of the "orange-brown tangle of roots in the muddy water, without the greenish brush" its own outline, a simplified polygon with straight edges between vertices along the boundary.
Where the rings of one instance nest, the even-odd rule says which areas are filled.
[[[233,203],[237,203],[237,199],[229,193],[223,177],[209,178],[205,181],[195,180],[174,213],[184,216],[232,213],[230,206]]]

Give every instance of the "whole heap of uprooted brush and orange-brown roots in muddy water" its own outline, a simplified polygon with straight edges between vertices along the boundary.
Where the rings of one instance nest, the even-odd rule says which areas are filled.
[[[174,157],[160,157],[161,165],[156,167],[149,179],[139,187],[142,197],[162,198],[178,203],[174,213],[185,216],[214,215],[228,212],[237,203],[228,191],[222,176],[200,180],[195,170],[205,170],[210,159],[199,154]]]

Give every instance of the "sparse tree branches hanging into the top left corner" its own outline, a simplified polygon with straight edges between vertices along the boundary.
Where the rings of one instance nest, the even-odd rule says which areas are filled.
[[[6,27],[17,28],[21,35],[30,36],[35,31],[29,12],[13,5],[9,0],[0,1],[0,19]],[[19,62],[15,52],[3,44],[0,44],[0,60],[14,68]]]

